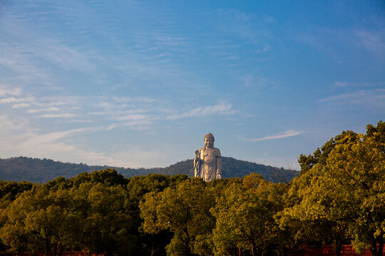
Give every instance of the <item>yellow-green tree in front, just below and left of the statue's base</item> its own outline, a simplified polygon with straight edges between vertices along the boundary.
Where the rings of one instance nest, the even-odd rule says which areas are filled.
[[[215,205],[214,193],[205,188],[205,181],[189,178],[159,193],[149,193],[140,203],[142,228],[156,234],[170,230],[173,238],[167,245],[168,255],[210,253],[210,233],[215,218],[210,208]]]

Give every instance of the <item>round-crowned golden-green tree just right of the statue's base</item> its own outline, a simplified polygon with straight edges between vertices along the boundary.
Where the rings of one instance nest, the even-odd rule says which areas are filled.
[[[225,188],[212,209],[217,220],[213,232],[215,255],[233,255],[237,248],[249,250],[253,256],[282,249],[282,232],[274,214],[282,210],[284,188],[258,174]]]

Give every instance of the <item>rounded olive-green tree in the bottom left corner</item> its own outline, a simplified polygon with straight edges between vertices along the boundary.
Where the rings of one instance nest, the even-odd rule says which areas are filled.
[[[34,186],[13,201],[6,209],[7,219],[0,238],[11,249],[21,252],[44,251],[46,255],[62,241],[71,240],[68,226],[73,225],[73,202],[68,191],[49,191]]]

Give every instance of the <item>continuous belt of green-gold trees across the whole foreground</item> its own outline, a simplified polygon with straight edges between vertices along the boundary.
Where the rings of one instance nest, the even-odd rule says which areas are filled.
[[[299,164],[301,175],[282,183],[256,173],[125,178],[114,169],[0,181],[0,251],[287,255],[307,243],[334,245],[337,256],[342,244],[381,256],[385,124],[342,132]]]

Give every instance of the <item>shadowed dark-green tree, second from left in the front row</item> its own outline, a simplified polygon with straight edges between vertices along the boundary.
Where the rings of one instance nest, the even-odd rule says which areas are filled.
[[[73,193],[81,214],[78,234],[83,249],[107,255],[123,255],[133,250],[136,240],[130,234],[133,218],[123,186],[82,183]]]

